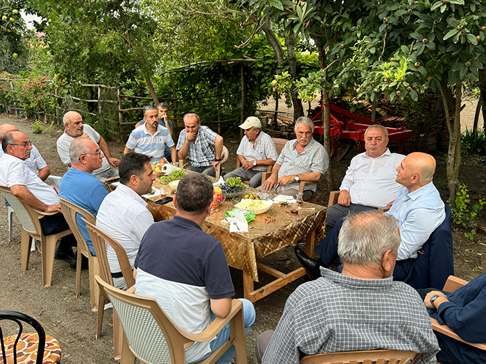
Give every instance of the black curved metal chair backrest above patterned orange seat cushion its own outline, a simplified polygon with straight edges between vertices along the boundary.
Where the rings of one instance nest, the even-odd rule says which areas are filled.
[[[9,202],[10,203],[10,202]],[[17,333],[17,338],[13,345],[13,363],[17,364],[17,343],[19,342],[20,336],[22,335],[22,324],[20,321],[26,322],[31,325],[37,331],[37,335],[39,336],[39,345],[37,346],[37,359],[35,360],[35,364],[42,364],[44,359],[44,347],[46,345],[46,333],[42,326],[40,325],[37,320],[31,318],[28,315],[24,315],[24,313],[15,312],[15,311],[0,311],[0,321],[1,320],[10,320],[16,322],[19,325],[19,331]],[[1,358],[3,359],[2,363],[11,363],[11,359],[7,361],[6,359],[6,351],[5,345],[3,344],[3,333],[0,329],[0,343],[1,343]]]

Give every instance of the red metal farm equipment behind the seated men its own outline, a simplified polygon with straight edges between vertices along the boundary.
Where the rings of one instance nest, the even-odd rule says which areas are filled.
[[[314,121],[315,135],[324,135],[322,116],[321,119],[317,119],[321,112],[322,109],[319,114],[312,118],[312,120]],[[337,141],[343,139],[348,139],[349,143],[344,152],[337,158],[338,161],[344,158],[349,150],[351,150],[353,146],[353,140],[358,146],[358,150],[360,150],[360,153],[364,152],[364,131],[369,127],[369,125],[374,124],[377,123],[365,119],[362,116],[353,114],[352,112],[344,110],[341,107],[330,105],[330,138],[332,145],[330,158],[333,159],[337,153]],[[406,129],[405,126],[401,126],[400,128],[385,128],[387,128],[388,130],[388,139],[390,141],[398,141],[399,153],[402,153],[403,144],[405,144],[405,141],[407,139],[410,139],[412,137],[412,130]]]

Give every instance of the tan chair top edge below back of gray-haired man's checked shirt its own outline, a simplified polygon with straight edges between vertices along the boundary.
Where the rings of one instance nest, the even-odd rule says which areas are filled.
[[[362,352],[340,352],[330,354],[306,355],[300,364],[412,364],[420,354],[401,350],[364,350]]]

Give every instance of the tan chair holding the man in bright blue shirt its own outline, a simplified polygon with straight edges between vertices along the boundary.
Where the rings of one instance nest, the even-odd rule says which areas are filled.
[[[76,241],[78,241],[78,257],[76,261],[76,297],[81,295],[81,265],[83,259],[82,255],[84,255],[88,259],[90,271],[91,309],[92,311],[97,311],[100,293],[97,283],[94,281],[94,276],[99,275],[98,259],[91,254],[90,248],[88,248],[83,234],[81,234],[81,231],[79,230],[78,223],[76,222],[76,214],[80,214],[86,221],[89,221],[92,224],[95,224],[97,219],[90,213],[90,211],[86,211],[82,207],[69,202],[65,198],[59,197],[59,201],[62,214],[64,214],[69,227],[71,227],[74,236],[76,236]]]

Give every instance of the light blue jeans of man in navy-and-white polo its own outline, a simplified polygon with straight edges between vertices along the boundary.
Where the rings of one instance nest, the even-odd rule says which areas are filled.
[[[248,335],[248,331],[250,331],[250,327],[255,322],[255,308],[253,304],[249,300],[245,300],[244,298],[239,299],[243,302],[243,317],[244,317],[244,334]],[[215,313],[211,312],[211,322],[217,318]],[[201,358],[193,361],[192,363],[197,363],[198,361],[202,361],[206,359],[208,356],[212,354],[218,347],[223,345],[226,340],[230,338],[230,323],[228,322],[221,331],[217,334],[215,340],[212,340],[210,343],[211,351],[208,354],[201,356]],[[215,364],[229,364],[233,360],[233,356],[235,356],[235,345],[232,345],[226,352],[221,355],[221,357],[217,360]]]

